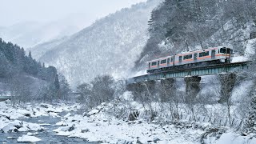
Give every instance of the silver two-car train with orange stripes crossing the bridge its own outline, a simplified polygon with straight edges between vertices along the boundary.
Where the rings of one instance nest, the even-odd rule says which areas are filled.
[[[230,62],[233,51],[230,46],[217,46],[205,50],[194,50],[174,54],[147,62],[146,72],[152,74],[168,70],[179,70],[192,68],[194,66],[207,66]]]

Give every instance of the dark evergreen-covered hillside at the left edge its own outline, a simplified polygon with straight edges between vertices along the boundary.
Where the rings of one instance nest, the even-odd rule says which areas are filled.
[[[37,62],[29,53],[0,38],[0,94],[12,94],[13,102],[52,100],[62,93],[63,78],[54,66]],[[68,85],[67,83],[65,84]],[[62,97],[62,96],[61,96]]]

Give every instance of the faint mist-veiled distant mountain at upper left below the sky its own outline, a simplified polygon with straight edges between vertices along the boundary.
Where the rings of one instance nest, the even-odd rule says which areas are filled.
[[[0,27],[0,37],[7,42],[17,43],[25,50],[54,39],[70,36],[90,26],[86,22],[88,16],[84,14],[72,14],[66,18],[54,22],[20,22],[13,26]]]

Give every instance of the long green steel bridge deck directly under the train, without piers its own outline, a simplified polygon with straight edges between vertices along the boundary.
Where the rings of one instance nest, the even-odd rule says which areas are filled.
[[[183,70],[172,70],[155,74],[146,74],[127,80],[128,84],[159,80],[166,78],[184,78],[186,76],[203,76],[220,73],[237,72],[249,69],[250,62],[222,63],[214,66],[201,66]]]

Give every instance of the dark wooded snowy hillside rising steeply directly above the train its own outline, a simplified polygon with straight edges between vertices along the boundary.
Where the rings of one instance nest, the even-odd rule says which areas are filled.
[[[150,38],[136,62],[145,62],[186,50],[232,46],[245,53],[245,42],[255,30],[255,1],[166,0],[150,18]]]

